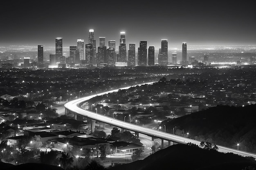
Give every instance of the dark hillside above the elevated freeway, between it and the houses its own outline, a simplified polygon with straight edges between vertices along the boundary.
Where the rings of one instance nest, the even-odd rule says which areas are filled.
[[[166,132],[189,137],[198,141],[208,141],[239,150],[256,153],[256,104],[245,107],[222,106],[208,108],[191,115],[163,121]]]

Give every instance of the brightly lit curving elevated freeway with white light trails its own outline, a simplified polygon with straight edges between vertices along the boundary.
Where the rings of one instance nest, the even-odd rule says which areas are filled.
[[[154,82],[149,82],[149,83],[144,83],[144,84],[153,84],[153,83]],[[139,84],[139,86],[144,85],[144,84]],[[101,121],[101,122],[104,122],[106,124],[116,126],[118,128],[123,128],[123,129],[127,129],[127,130],[134,131],[134,132],[139,132],[141,134],[148,135],[148,136],[153,137],[153,138],[160,138],[160,139],[164,139],[164,140],[167,140],[167,141],[173,141],[174,143],[178,143],[178,144],[187,144],[187,143],[191,142],[191,143],[196,144],[198,146],[200,145],[200,141],[196,141],[196,140],[185,138],[185,137],[180,137],[180,136],[177,136],[177,135],[173,135],[173,134],[158,131],[158,130],[153,130],[153,129],[146,128],[146,127],[143,127],[143,126],[137,126],[137,125],[134,125],[134,124],[130,124],[128,122],[121,121],[121,120],[112,119],[111,117],[107,117],[105,115],[99,115],[97,113],[94,113],[92,111],[85,110],[85,109],[79,107],[79,104],[81,104],[82,102],[85,102],[85,101],[87,101],[87,100],[89,100],[93,97],[96,97],[96,96],[99,96],[99,95],[105,95],[105,94],[108,94],[108,93],[117,92],[119,90],[128,89],[128,88],[130,88],[130,86],[120,88],[120,89],[116,89],[116,90],[112,90],[112,91],[107,91],[107,92],[104,92],[104,93],[99,93],[97,95],[91,95],[91,96],[88,96],[88,97],[75,99],[75,100],[72,100],[70,102],[65,103],[64,107],[65,107],[65,109],[71,111],[72,113],[76,113],[76,114],[88,117],[90,119],[94,119],[96,121]],[[219,145],[217,145],[217,146],[219,148],[218,149],[219,152],[225,152],[225,153],[233,152],[234,154],[238,154],[238,155],[241,155],[241,156],[256,158],[256,154],[254,154],[254,153],[244,152],[244,151],[240,151],[240,150],[236,150],[236,149],[232,149],[232,148],[228,148],[228,147],[224,147],[224,146],[219,146]]]

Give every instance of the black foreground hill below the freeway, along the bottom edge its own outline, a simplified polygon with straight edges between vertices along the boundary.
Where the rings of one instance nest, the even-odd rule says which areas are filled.
[[[249,166],[256,168],[256,162],[233,153],[176,144],[143,160],[114,166],[110,170],[243,170]]]

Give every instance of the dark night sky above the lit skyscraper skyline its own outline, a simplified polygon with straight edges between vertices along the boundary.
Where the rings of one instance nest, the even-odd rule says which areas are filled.
[[[99,36],[118,43],[120,31],[136,46],[146,40],[157,47],[161,39],[170,46],[256,44],[256,10],[247,0],[6,0],[0,18],[0,46],[55,46],[56,37],[66,47],[80,38],[86,44],[89,29],[97,46]]]

